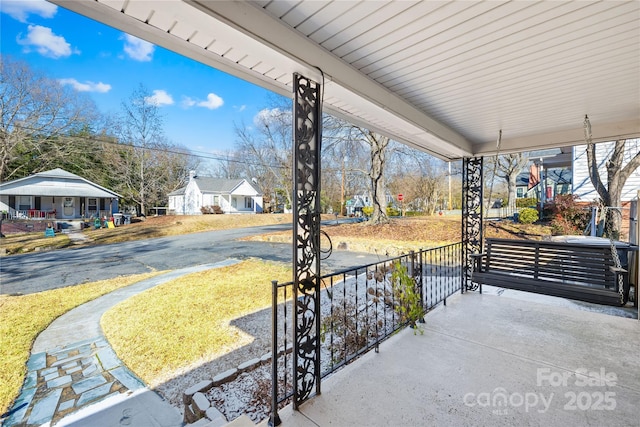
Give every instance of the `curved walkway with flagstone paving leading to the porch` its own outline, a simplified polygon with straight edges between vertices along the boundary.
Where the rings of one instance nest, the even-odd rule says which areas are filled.
[[[48,426],[61,421],[61,424],[68,424],[65,417],[78,411],[93,415],[92,425],[117,426],[123,420],[128,425],[143,425],[141,422],[145,425],[153,422],[157,426],[181,425],[180,414],[155,393],[145,393],[144,400],[135,398],[144,392],[145,385],[111,349],[102,334],[100,318],[120,301],[146,289],[185,274],[236,262],[227,260],[172,271],[111,292],[60,316],[36,339],[27,362],[28,372],[22,391],[13,405],[13,413],[2,426]],[[126,396],[132,396],[132,399],[124,410],[118,409],[118,413],[104,409],[98,415],[95,411],[91,413],[91,406],[97,402],[114,398],[122,403]],[[137,422],[131,414],[137,417]],[[82,420],[76,421],[83,425]]]

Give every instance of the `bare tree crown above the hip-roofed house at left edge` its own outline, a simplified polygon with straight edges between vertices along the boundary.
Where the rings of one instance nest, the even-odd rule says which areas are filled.
[[[0,59],[0,181],[77,159],[86,144],[61,137],[86,133],[95,105],[25,62]]]

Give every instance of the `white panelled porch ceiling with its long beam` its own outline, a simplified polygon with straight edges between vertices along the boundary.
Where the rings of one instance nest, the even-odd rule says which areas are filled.
[[[443,159],[640,136],[637,1],[50,1]]]

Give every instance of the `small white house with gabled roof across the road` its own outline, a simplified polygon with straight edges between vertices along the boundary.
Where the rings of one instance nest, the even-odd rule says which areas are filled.
[[[246,179],[189,176],[189,183],[169,193],[169,212],[200,215],[200,208],[219,206],[224,213],[261,213],[262,195]]]

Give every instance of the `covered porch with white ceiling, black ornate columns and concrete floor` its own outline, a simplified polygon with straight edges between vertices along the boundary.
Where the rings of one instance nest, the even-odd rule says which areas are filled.
[[[285,425],[633,420],[637,321],[473,293],[427,316],[425,336],[401,332],[379,355],[323,381],[320,393],[319,199],[324,112],[440,159],[462,159],[458,266],[466,288],[470,255],[483,247],[483,157],[582,144],[586,115],[594,143],[640,136],[637,2],[53,3],[294,98],[291,333],[299,412],[283,413]],[[546,368],[551,378],[567,373],[573,381],[539,381],[537,370]],[[576,385],[582,368],[611,370],[616,385]],[[506,412],[496,415],[477,397],[500,388]],[[552,392],[553,410],[544,413],[510,401]],[[607,410],[612,399],[615,411]],[[602,408],[586,410],[594,402]]]

